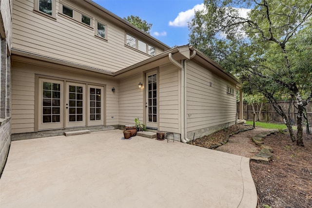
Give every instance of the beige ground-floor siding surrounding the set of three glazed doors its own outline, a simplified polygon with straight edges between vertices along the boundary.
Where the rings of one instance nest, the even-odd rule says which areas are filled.
[[[62,67],[59,66],[59,69]],[[118,124],[118,83],[100,76],[72,73],[55,68],[14,61],[12,64],[12,133],[34,132],[36,128],[35,75],[84,82],[106,87],[106,125]],[[115,87],[116,92],[112,92]]]

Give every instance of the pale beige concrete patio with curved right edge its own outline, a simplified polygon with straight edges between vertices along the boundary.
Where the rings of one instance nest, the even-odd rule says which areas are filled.
[[[121,130],[13,141],[0,208],[255,208],[249,158]]]

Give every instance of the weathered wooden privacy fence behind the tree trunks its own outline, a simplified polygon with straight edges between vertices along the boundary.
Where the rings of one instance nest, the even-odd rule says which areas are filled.
[[[286,113],[287,116],[288,116],[289,105],[291,105],[291,110],[290,110],[291,122],[292,122],[292,124],[296,124],[297,109],[295,107],[293,107],[292,103],[285,102],[285,101],[281,101],[278,103],[282,107],[283,111]],[[295,103],[295,106],[297,106],[296,103]],[[243,107],[244,107],[244,111],[243,111],[244,119],[245,120],[253,120],[254,119],[253,107],[251,105],[248,105],[247,103],[244,103]],[[256,113],[258,113],[258,110],[259,110],[259,106],[255,106]],[[312,103],[311,102],[306,106],[306,110],[307,110],[307,118],[309,121],[309,125],[312,125]],[[237,103],[237,115],[239,116],[239,103]],[[261,118],[262,121],[284,123],[282,116],[280,116],[278,113],[276,113],[276,111],[274,110],[274,108],[271,104],[264,104],[263,105],[261,117],[262,117]],[[238,119],[240,119],[240,118],[238,117]],[[256,117],[256,119],[257,119],[257,117]],[[304,117],[302,118],[302,121],[303,121],[303,123],[306,122]]]

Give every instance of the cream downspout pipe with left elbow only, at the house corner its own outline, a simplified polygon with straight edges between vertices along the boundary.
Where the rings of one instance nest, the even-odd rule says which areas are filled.
[[[173,57],[172,57],[172,53],[169,53],[169,60],[171,63],[173,63],[177,68],[179,68],[181,70],[181,89],[180,89],[180,94],[181,94],[181,99],[180,99],[180,115],[181,115],[181,141],[183,143],[187,143],[188,141],[190,141],[187,137],[186,137],[186,128],[185,128],[185,69],[184,66],[181,65],[180,63],[178,63]],[[182,63],[185,61],[182,60]]]

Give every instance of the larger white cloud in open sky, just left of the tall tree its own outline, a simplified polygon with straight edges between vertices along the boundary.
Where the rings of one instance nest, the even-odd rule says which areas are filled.
[[[170,26],[185,27],[194,18],[195,11],[203,10],[204,4],[196,4],[192,9],[180,12],[174,21],[169,21]]]

